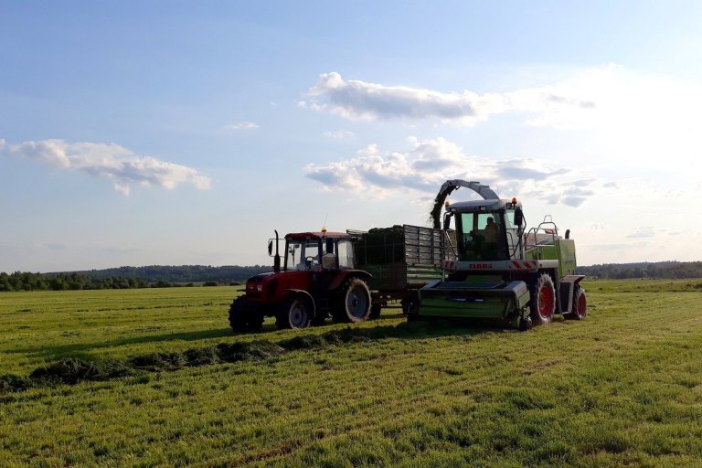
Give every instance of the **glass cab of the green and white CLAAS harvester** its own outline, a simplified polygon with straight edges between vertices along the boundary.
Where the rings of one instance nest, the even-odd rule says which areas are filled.
[[[454,218],[459,261],[507,261],[524,258],[522,204],[512,200],[477,200],[446,207],[444,229]]]

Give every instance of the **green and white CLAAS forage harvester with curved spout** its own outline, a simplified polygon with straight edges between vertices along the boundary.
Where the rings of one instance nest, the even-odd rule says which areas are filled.
[[[432,211],[460,186],[484,199],[446,205],[443,228],[453,221],[457,260],[444,261],[443,279],[420,290],[420,303],[410,319],[441,316],[501,321],[520,329],[548,324],[554,314],[580,320],[587,300],[575,274],[575,243],[558,236],[547,217],[525,235],[526,220],[516,200],[498,198],[478,182],[447,181]]]

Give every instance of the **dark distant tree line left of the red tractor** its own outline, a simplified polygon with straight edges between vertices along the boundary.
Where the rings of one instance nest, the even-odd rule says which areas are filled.
[[[0,273],[0,292],[68,291],[93,289],[167,288],[173,286],[218,286],[239,284],[263,271],[267,266],[201,265],[120,267],[107,270],[32,273]]]

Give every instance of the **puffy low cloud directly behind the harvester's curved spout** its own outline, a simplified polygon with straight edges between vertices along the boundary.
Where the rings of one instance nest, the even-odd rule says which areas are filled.
[[[446,179],[463,178],[488,184],[503,197],[514,194],[551,204],[579,207],[593,197],[601,182],[581,172],[552,167],[538,158],[487,160],[464,154],[445,138],[420,141],[410,138],[406,152],[382,153],[369,144],[354,157],[304,167],[305,176],[325,190],[346,190],[365,197],[388,197],[412,190],[433,195]]]

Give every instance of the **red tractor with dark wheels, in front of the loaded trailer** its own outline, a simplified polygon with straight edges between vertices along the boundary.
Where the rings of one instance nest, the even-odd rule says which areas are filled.
[[[281,268],[278,231],[268,244],[273,271],[252,276],[246,294],[231,303],[229,324],[235,332],[261,329],[265,317],[275,317],[278,328],[305,328],[324,324],[358,323],[370,314],[370,274],[356,270],[353,238],[343,232],[298,232],[285,236]]]

